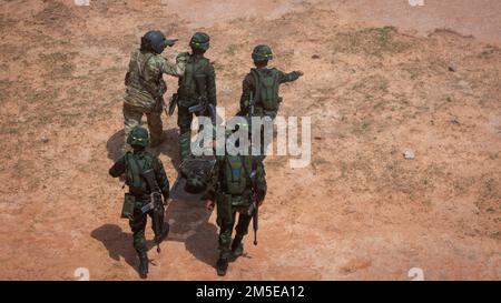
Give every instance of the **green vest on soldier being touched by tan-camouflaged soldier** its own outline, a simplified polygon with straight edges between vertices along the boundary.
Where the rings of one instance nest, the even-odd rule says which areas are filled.
[[[209,65],[209,60],[207,58],[189,57],[188,62],[186,63],[185,74],[179,78],[179,103],[190,105],[194,100],[197,100],[200,97],[200,93],[204,93],[197,88],[196,78],[204,78],[199,79],[199,82],[206,83],[204,69],[207,65]]]

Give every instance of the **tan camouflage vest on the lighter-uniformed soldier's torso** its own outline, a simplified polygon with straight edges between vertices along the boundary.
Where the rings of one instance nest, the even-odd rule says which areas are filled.
[[[154,53],[143,53],[141,51],[137,50],[130,60],[129,63],[129,71],[126,74],[125,84],[127,87],[132,87],[136,90],[143,90],[147,91],[149,94],[151,94],[153,99],[157,99],[167,90],[166,83],[161,77],[161,72],[158,73],[157,79],[155,79],[153,82],[148,82],[145,79],[145,70],[147,68],[147,64],[151,58],[154,58],[156,54]]]

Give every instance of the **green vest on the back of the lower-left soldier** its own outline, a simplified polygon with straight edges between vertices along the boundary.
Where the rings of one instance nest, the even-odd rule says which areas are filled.
[[[151,191],[145,179],[141,176],[141,173],[149,169],[153,169],[154,158],[146,152],[132,153],[129,151],[125,154],[125,163],[126,184],[129,186],[130,193],[150,193]]]

